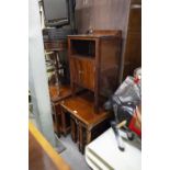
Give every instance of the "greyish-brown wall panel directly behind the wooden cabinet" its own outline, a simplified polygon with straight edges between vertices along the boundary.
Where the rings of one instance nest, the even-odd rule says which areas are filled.
[[[131,0],[76,0],[76,24],[78,33],[86,33],[89,29],[122,30],[121,82]]]

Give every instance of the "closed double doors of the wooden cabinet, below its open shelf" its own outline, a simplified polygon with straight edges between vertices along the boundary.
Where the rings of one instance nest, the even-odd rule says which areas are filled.
[[[94,60],[72,57],[70,61],[72,81],[83,88],[94,90]]]

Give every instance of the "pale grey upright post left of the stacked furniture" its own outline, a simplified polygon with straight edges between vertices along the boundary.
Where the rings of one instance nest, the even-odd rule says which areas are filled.
[[[56,146],[44,57],[41,16],[36,0],[29,1],[29,88],[38,129]]]

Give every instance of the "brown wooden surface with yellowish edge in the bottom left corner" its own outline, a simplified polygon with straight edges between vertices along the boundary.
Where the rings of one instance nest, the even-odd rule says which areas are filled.
[[[69,166],[53,149],[50,144],[34,127],[29,125],[29,169],[30,170],[69,170]]]

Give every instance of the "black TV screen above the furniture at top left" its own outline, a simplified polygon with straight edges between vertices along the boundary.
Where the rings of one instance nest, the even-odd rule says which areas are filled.
[[[63,26],[69,23],[68,0],[43,0],[43,7],[47,26]]]

